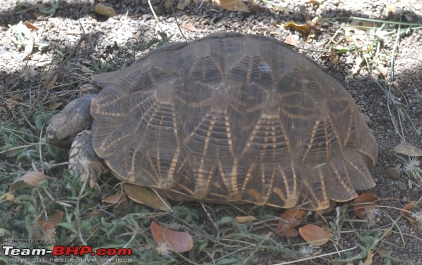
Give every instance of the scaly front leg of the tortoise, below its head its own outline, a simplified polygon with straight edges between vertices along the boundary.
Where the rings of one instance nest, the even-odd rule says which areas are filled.
[[[69,171],[72,174],[79,172],[82,182],[89,180],[89,186],[98,189],[98,179],[107,167],[95,153],[91,138],[89,130],[77,134],[70,148]]]

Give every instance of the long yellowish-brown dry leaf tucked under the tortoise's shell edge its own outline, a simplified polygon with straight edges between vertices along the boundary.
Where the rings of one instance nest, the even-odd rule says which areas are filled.
[[[157,193],[149,188],[131,184],[122,184],[122,187],[127,197],[134,202],[148,205],[163,212],[169,212],[171,209],[170,202],[166,198],[158,196]]]

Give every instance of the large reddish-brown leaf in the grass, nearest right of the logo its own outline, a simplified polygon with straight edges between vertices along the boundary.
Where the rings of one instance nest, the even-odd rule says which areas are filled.
[[[160,226],[153,221],[151,223],[151,233],[158,244],[165,244],[172,252],[186,252],[193,247],[193,238],[186,232],[173,231]]]

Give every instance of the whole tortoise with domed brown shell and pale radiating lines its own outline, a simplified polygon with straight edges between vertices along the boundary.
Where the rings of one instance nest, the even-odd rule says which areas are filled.
[[[101,91],[46,130],[53,146],[76,136],[69,167],[84,178],[107,167],[171,200],[311,210],[375,186],[378,147],[350,94],[271,37],[165,44],[91,79]]]

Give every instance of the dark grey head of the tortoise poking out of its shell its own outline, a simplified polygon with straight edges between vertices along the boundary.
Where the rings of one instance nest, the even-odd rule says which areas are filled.
[[[54,115],[46,130],[46,141],[51,146],[69,147],[79,132],[92,124],[91,101],[95,95],[83,96],[69,103],[60,113]]]

